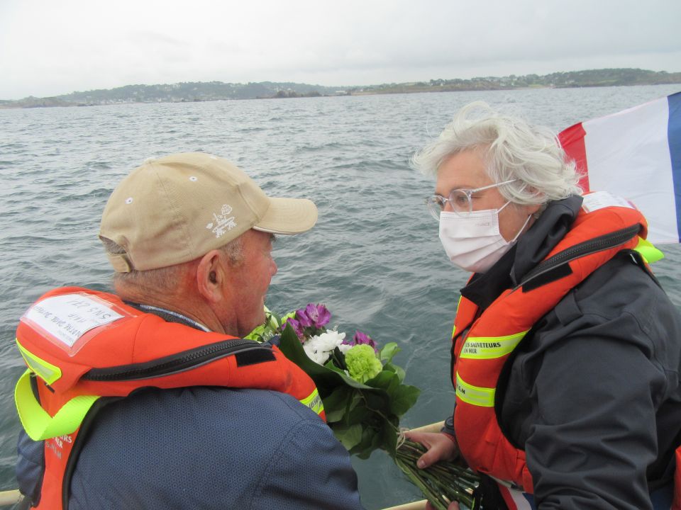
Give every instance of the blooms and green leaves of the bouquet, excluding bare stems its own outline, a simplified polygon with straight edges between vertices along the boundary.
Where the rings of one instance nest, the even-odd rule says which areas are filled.
[[[404,370],[392,363],[400,351],[390,342],[380,350],[361,331],[352,339],[327,329],[331,313],[309,304],[284,317],[267,312],[267,322],[247,338],[272,341],[311,378],[319,390],[326,421],[352,455],[368,458],[377,448],[394,456],[399,418],[416,403],[420,390],[405,385]]]

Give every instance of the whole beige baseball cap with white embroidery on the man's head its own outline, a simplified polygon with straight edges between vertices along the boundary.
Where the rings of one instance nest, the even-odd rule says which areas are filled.
[[[100,239],[125,253],[107,254],[114,269],[174,266],[224,246],[248,229],[299,234],[317,208],[304,198],[272,198],[234,164],[190,152],[148,159],[111,193]]]

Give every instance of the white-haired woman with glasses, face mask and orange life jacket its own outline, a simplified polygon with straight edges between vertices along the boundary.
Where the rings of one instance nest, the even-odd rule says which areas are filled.
[[[409,434],[428,448],[419,465],[463,457],[485,475],[484,509],[516,508],[521,492],[542,510],[650,509],[651,492],[670,508],[681,315],[641,255],[646,220],[608,193],[580,196],[551,132],[485,103],[414,164],[436,176],[426,203],[445,252],[473,273],[455,409],[442,433]]]

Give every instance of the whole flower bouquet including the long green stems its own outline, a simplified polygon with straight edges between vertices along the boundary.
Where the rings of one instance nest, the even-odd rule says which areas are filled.
[[[425,449],[404,440],[399,419],[416,403],[420,390],[405,385],[404,370],[392,363],[400,351],[395,342],[379,350],[361,331],[348,339],[328,329],[331,312],[324,305],[311,303],[284,317],[270,310],[265,314],[265,324],[247,338],[278,344],[314,380],[326,421],[351,455],[368,458],[377,448],[385,450],[434,508],[444,510],[455,500],[472,507],[477,475],[454,463],[416,467]]]

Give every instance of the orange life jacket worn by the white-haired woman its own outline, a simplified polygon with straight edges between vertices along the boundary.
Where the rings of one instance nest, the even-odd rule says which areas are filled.
[[[504,436],[494,410],[499,374],[538,319],[619,251],[636,248],[646,229],[646,220],[633,208],[580,210],[546,259],[479,317],[477,305],[461,297],[453,332],[454,429],[473,470],[533,492],[525,452]]]

